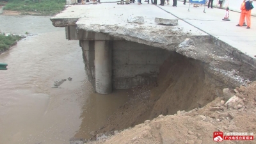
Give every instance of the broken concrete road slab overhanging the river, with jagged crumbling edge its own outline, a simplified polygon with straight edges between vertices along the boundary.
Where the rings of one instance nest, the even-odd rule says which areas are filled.
[[[156,17],[159,17],[159,15],[164,15],[167,19],[176,19],[176,17],[166,14],[165,11],[151,4],[140,6],[140,10],[143,12],[154,12],[150,14],[137,13],[131,10],[131,8],[137,8],[137,5],[128,7],[114,6],[115,8],[113,8],[113,6],[113,3],[102,3],[99,6],[90,7],[71,6],[55,17],[52,17],[52,24],[56,27],[67,26],[70,28],[70,26],[76,26],[74,29],[76,31],[102,33],[113,38],[159,47],[167,49],[168,51],[176,51],[188,58],[207,63],[208,65],[205,66],[205,70],[208,70],[211,74],[214,74],[214,76],[218,74],[218,76],[221,77],[220,79],[225,79],[225,83],[235,81],[233,83],[234,87],[236,87],[237,84],[243,84],[243,77],[231,75],[230,70],[227,70],[225,67],[227,64],[224,65],[224,63],[233,63],[232,65],[236,63],[236,65],[243,65],[243,67],[246,65],[232,58],[231,55],[227,56],[226,51],[222,51],[221,48],[219,49],[219,47],[222,47],[224,44],[216,44],[217,42],[215,42],[216,40],[212,40],[212,36],[191,26],[191,24],[184,22],[184,20],[179,20],[178,26],[156,24],[154,20]],[[128,11],[129,13],[127,13]],[[145,23],[142,26],[141,24],[127,22],[128,17],[136,16],[144,18]],[[74,20],[69,22],[69,19],[77,18],[78,20],[76,22]],[[82,39],[79,40],[84,40],[83,36],[81,36],[81,38]],[[193,43],[190,44],[186,38],[190,38]],[[211,45],[216,45],[216,47],[212,47]],[[244,75],[252,71],[253,70],[250,70]]]

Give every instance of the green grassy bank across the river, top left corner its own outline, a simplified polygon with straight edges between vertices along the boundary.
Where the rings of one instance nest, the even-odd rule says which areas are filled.
[[[65,3],[66,0],[8,0],[4,10],[31,15],[54,15],[63,10]]]

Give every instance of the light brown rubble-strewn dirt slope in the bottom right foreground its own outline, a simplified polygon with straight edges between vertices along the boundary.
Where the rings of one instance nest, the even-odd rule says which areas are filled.
[[[154,120],[124,131],[115,136],[98,137],[88,143],[216,143],[214,131],[254,132],[256,134],[256,82],[236,88],[236,96],[230,102],[216,98],[204,108],[178,111],[175,115],[159,115]],[[98,135],[100,136],[100,135]],[[222,143],[256,143],[230,141]]]

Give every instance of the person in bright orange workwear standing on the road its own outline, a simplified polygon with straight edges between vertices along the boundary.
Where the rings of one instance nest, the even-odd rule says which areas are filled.
[[[246,17],[246,23],[247,23],[247,29],[251,28],[251,10],[246,10],[245,8],[245,3],[249,0],[244,0],[243,3],[241,4],[241,14],[240,14],[240,19],[239,19],[239,24],[236,26],[243,26],[244,22],[244,17]]]

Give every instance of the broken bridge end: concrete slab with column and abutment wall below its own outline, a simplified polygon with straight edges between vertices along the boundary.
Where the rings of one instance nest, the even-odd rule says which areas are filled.
[[[156,6],[140,7],[142,22],[129,22],[139,16],[137,8],[109,3],[71,6],[51,18],[54,26],[66,28],[68,40],[80,41],[86,73],[96,92],[106,94],[112,88],[132,88],[156,81],[159,66],[169,55],[165,51],[207,63],[209,70],[224,77],[233,70],[240,71],[241,77],[225,78],[234,80],[234,85],[254,77],[250,70],[241,72],[249,65],[228,56],[214,45],[211,36],[186,22],[179,20],[177,26],[157,24],[159,15],[177,18]]]

